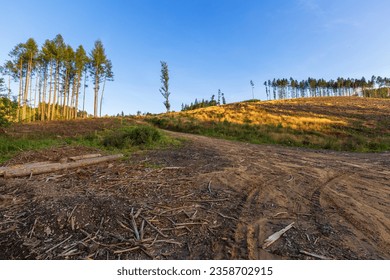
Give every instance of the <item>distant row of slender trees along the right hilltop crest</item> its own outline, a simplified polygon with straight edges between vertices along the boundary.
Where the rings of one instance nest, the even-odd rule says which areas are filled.
[[[251,81],[253,90],[253,82]],[[371,79],[337,78],[324,80],[308,78],[297,81],[273,79],[264,82],[267,99],[286,99],[317,96],[390,97],[390,78],[372,76]]]

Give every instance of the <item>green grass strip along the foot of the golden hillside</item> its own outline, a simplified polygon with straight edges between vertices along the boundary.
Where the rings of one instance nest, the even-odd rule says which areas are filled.
[[[329,125],[321,131],[294,129],[282,124],[253,125],[228,121],[199,121],[194,118],[152,117],[152,124],[173,131],[236,140],[253,144],[278,144],[292,147],[353,152],[390,150],[390,135],[369,133],[367,129]]]

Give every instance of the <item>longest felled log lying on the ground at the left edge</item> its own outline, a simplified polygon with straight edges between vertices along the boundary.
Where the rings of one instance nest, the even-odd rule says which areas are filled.
[[[55,172],[58,170],[77,168],[82,166],[88,166],[92,164],[98,164],[105,161],[115,160],[123,157],[122,154],[118,155],[110,155],[110,156],[102,156],[102,157],[94,157],[94,158],[86,158],[81,159],[74,162],[66,162],[66,163],[44,163],[41,165],[34,164],[33,166],[29,166],[29,164],[20,166],[19,168],[8,167],[3,170],[4,178],[13,178],[13,177],[23,177],[23,176],[31,176],[43,173]],[[1,173],[0,173],[1,175]]]

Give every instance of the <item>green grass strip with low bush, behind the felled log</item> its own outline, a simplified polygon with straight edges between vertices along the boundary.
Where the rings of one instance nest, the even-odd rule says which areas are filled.
[[[115,120],[113,120],[115,121]],[[88,125],[86,123],[86,125]],[[61,128],[61,126],[59,126]],[[58,137],[53,134],[29,132],[23,136],[0,136],[0,163],[17,153],[60,145],[77,145],[99,148],[109,153],[130,155],[137,150],[160,149],[180,145],[180,140],[166,135],[150,125],[123,122],[120,127],[88,131],[84,135]]]

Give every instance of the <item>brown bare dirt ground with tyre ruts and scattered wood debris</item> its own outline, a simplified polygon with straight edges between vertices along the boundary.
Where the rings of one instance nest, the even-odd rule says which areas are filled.
[[[188,141],[128,161],[1,179],[0,258],[390,259],[389,153],[171,134]],[[88,152],[65,146],[8,164]]]

